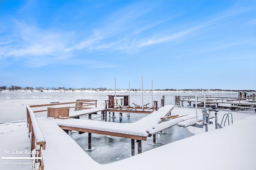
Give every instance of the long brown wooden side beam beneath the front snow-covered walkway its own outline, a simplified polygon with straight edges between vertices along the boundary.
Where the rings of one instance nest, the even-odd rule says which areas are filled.
[[[81,131],[81,132],[88,132],[88,133],[96,133],[96,134],[101,134],[101,135],[110,135],[110,136],[124,137],[124,138],[143,140],[143,141],[147,140],[146,136],[130,135],[130,134],[124,134],[124,133],[100,131],[100,130],[94,130],[94,129],[87,129],[87,128],[81,128],[81,127],[70,127],[70,126],[62,126],[62,125],[59,125],[59,127],[61,129],[66,129],[66,130],[74,130],[74,131]]]

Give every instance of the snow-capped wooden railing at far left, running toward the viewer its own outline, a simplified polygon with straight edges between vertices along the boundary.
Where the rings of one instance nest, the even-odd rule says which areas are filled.
[[[45,141],[42,131],[39,127],[39,124],[36,120],[36,116],[34,115],[34,112],[30,108],[30,106],[27,106],[27,122],[29,124],[28,136],[30,137],[30,141],[31,141],[30,156],[31,157],[32,157],[32,155],[35,156],[35,159],[33,162],[33,166],[34,166],[33,169],[43,170],[44,169],[44,161],[42,159],[41,150],[45,149],[46,141]]]

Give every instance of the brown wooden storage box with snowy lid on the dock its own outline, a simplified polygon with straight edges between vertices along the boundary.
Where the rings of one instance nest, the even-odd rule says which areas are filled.
[[[47,109],[47,117],[54,117],[54,119],[57,119],[58,116],[61,117],[68,117],[69,116],[69,108],[68,105],[56,105],[48,107]]]

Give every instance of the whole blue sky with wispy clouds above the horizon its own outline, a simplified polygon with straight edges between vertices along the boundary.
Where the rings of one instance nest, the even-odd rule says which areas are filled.
[[[256,1],[0,1],[0,86],[256,89]]]

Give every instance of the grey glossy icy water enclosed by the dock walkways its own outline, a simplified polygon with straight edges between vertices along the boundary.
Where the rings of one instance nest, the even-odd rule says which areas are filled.
[[[120,117],[119,113],[116,113],[115,117],[112,117],[111,113],[111,115],[107,116],[107,121],[133,123],[146,115],[147,114],[123,113],[122,117]],[[88,116],[83,116],[80,119],[88,119]],[[92,119],[95,121],[103,121],[100,114],[92,115]],[[69,133],[69,135],[83,150],[88,147],[88,133],[79,135],[78,132],[73,132]],[[153,136],[148,137],[147,141],[142,141],[142,152],[192,135],[193,134],[190,133],[187,128],[178,126],[170,127],[165,129],[162,133],[156,134],[156,144],[153,143]],[[92,146],[96,147],[96,149],[86,153],[100,164],[108,164],[131,156],[131,139],[92,134]],[[135,153],[138,154],[137,143],[135,143]]]

